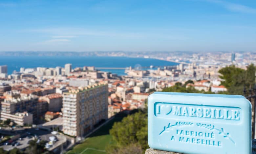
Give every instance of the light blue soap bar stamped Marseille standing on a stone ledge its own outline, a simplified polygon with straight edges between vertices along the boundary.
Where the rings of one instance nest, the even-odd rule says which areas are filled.
[[[186,154],[251,154],[251,103],[240,95],[154,92],[148,144]]]

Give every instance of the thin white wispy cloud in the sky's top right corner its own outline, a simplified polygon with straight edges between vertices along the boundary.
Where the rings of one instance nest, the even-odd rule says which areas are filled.
[[[221,0],[203,0],[203,1],[219,4],[229,11],[240,12],[240,13],[256,13],[256,9],[250,8],[245,5],[225,2]]]

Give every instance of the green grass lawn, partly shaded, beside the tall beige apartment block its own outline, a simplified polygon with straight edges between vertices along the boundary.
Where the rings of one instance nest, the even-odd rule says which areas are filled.
[[[114,122],[121,121],[122,117],[114,117],[110,122],[100,127],[81,144],[77,144],[66,154],[106,154],[106,146],[111,142],[109,130]]]

